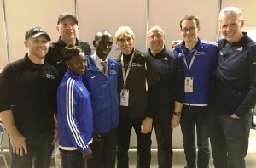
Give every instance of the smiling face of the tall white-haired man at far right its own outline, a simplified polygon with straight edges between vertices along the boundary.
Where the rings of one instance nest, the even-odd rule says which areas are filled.
[[[224,38],[230,43],[240,41],[242,35],[241,28],[244,25],[244,20],[236,15],[222,15],[219,18],[220,31]]]

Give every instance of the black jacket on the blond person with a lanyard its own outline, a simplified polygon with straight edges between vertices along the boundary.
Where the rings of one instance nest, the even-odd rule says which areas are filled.
[[[144,119],[146,116],[153,117],[156,98],[156,82],[159,76],[154,69],[154,64],[149,55],[134,49],[134,59],[132,60],[131,70],[127,77],[126,89],[129,90],[129,105],[120,106],[120,119]],[[124,54],[125,73],[128,68],[131,54]],[[124,85],[122,67],[120,65],[121,55],[117,58],[119,63],[118,92],[120,95]],[[146,86],[148,84],[148,90]]]

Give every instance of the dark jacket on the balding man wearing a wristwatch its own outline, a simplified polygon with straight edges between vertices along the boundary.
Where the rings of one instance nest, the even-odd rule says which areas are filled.
[[[155,70],[160,77],[157,82],[156,113],[154,119],[171,118],[174,101],[183,104],[184,75],[183,64],[166,47],[155,56],[148,49],[147,54],[153,59]]]

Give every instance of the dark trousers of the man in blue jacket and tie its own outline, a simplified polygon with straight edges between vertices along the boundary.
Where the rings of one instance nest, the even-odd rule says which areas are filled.
[[[114,168],[116,146],[118,141],[118,128],[102,133],[102,141],[94,140],[90,144],[93,157],[87,160],[88,168]]]

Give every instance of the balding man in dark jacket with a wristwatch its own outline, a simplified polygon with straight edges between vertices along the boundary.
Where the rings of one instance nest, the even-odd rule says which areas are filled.
[[[179,125],[183,105],[183,64],[166,48],[165,37],[159,25],[148,30],[147,53],[160,77],[153,116],[159,168],[172,167],[172,128]]]

